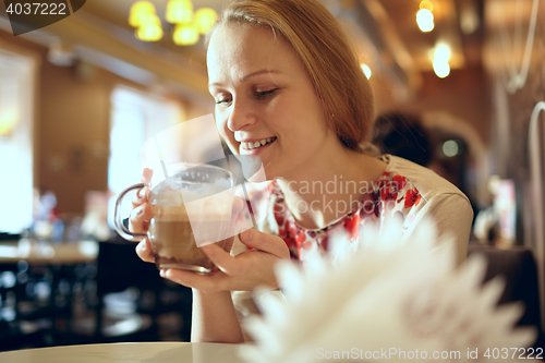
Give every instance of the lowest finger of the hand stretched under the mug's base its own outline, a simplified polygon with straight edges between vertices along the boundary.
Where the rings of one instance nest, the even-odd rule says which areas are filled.
[[[216,271],[213,275],[198,275],[175,268],[161,269],[160,276],[175,283],[206,292],[226,290],[230,279],[221,271]]]

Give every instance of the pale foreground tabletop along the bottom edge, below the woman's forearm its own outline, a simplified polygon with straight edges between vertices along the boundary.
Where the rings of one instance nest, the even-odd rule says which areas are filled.
[[[0,353],[1,363],[243,363],[242,346],[190,342],[128,342],[66,346]]]

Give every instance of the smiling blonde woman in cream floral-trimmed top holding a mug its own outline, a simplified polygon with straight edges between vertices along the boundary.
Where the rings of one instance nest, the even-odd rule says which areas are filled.
[[[395,215],[404,218],[409,233],[431,216],[439,232],[456,237],[464,259],[472,218],[467,197],[427,169],[364,153],[372,92],[338,22],[319,2],[234,1],[210,32],[207,64],[218,131],[233,154],[262,160],[271,181],[263,199],[271,203],[274,218],[262,231],[239,235],[251,251],[233,257],[215,245],[203,247],[220,268],[211,276],[160,273],[193,288],[192,340],[243,341],[230,291],[278,288],[275,263],[327,251],[337,230],[355,242],[364,222]],[[324,185],[340,187],[317,187]],[[134,201],[134,231],[146,229],[148,192]],[[147,262],[150,250],[147,239],[136,247]]]

